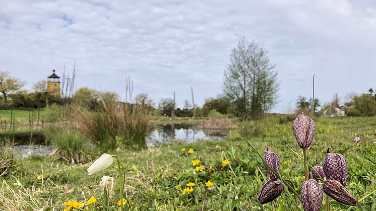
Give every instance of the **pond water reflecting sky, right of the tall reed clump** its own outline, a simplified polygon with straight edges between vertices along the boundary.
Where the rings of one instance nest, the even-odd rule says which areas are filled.
[[[197,125],[168,123],[153,125],[152,132],[146,138],[148,147],[159,146],[172,140],[193,143],[201,140],[224,140],[225,130],[203,130]]]

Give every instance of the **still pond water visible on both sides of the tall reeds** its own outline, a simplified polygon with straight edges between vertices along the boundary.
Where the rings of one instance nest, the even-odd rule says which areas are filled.
[[[200,128],[199,125],[187,123],[152,124],[145,141],[147,147],[157,147],[174,140],[185,143],[225,140],[227,133],[226,129],[204,129]],[[30,133],[20,133],[14,135],[13,138],[14,142],[17,142],[17,145],[8,147],[7,149],[23,158],[47,156],[54,151],[52,146],[43,145],[44,136],[42,133],[32,135]],[[33,140],[32,145],[29,145],[27,141],[30,138]]]

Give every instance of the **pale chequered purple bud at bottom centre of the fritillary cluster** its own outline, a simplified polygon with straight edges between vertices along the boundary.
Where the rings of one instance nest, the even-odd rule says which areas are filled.
[[[323,189],[314,179],[301,184],[300,197],[304,211],[320,211],[323,202]]]

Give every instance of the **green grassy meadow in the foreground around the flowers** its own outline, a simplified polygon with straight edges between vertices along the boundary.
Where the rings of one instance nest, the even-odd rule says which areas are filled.
[[[224,142],[175,142],[160,148],[141,151],[120,149],[112,153],[121,159],[126,168],[125,192],[128,198],[135,201],[139,194],[136,210],[261,210],[257,196],[265,183],[263,176],[266,171],[259,157],[238,132],[243,132],[260,153],[267,147],[277,153],[282,177],[292,180],[298,192],[304,180],[304,169],[302,160],[288,147],[300,155],[302,150],[293,136],[290,120],[281,116],[238,122],[238,130],[231,131]],[[318,118],[316,125],[314,142],[307,151],[308,163],[314,165],[317,158],[321,161],[330,146],[346,158],[349,170],[346,188],[355,198],[360,199],[376,190],[376,137],[373,136],[376,118]],[[360,144],[352,142],[354,133],[360,136]],[[182,153],[183,147],[187,150],[193,148],[195,152]],[[232,170],[230,166],[222,165],[225,158]],[[204,172],[193,170],[194,159],[205,165]],[[99,182],[103,175],[115,177],[114,191],[119,190],[116,165],[92,176],[86,173],[90,163],[72,165],[42,157],[23,160],[17,165],[23,168],[17,171],[15,177],[0,178],[0,182],[5,182],[0,189],[0,209],[51,210],[63,209],[61,204],[67,200],[86,202],[91,196],[88,188],[100,195]],[[208,180],[215,184],[210,189],[205,187]],[[175,188],[177,185],[184,188],[189,182],[196,183],[192,193],[183,195],[181,189]],[[114,202],[118,199],[115,193],[111,193],[110,204],[116,206]],[[285,193],[273,203],[276,210],[295,208]],[[262,207],[263,210],[272,209],[271,203]],[[301,205],[299,208],[302,210]],[[331,200],[331,210],[375,209],[376,193],[359,201],[358,207]]]

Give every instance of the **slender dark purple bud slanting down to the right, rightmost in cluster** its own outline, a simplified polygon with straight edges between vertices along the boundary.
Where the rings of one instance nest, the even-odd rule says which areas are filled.
[[[338,202],[351,206],[355,206],[358,203],[354,196],[337,180],[325,180],[323,188],[327,195]]]

